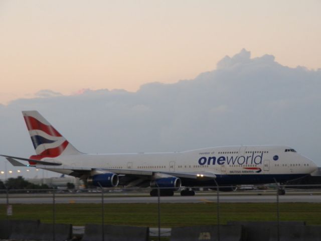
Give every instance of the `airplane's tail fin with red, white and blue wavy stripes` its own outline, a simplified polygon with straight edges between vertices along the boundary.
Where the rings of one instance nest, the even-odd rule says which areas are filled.
[[[30,157],[31,159],[41,160],[45,157],[55,158],[80,153],[38,111],[22,113],[37,154]]]

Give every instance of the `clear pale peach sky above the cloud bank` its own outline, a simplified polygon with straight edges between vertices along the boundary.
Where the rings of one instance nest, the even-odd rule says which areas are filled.
[[[320,9],[319,0],[0,0],[0,103],[43,89],[175,83],[243,48],[317,69]]]

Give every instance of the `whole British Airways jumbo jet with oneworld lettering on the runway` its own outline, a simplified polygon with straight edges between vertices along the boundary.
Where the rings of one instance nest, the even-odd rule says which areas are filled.
[[[151,187],[150,195],[195,195],[191,187],[286,183],[317,166],[288,146],[225,146],[173,153],[85,154],[38,111],[22,111],[36,155],[1,155],[14,166],[35,167],[87,180],[96,187]],[[20,161],[27,161],[23,164]],[[189,188],[187,188],[189,187]],[[285,194],[280,189],[280,194]]]

